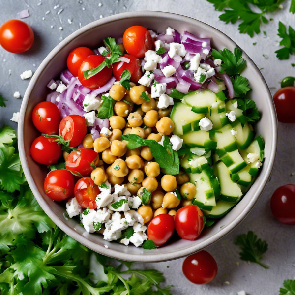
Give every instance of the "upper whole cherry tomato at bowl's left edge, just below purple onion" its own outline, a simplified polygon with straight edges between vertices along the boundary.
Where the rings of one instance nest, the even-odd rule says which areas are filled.
[[[45,134],[59,134],[60,113],[58,107],[50,101],[38,103],[32,112],[34,126]]]

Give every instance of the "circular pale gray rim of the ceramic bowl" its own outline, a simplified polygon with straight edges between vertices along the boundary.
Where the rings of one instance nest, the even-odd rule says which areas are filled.
[[[242,213],[236,217],[236,219],[230,223],[228,226],[226,226],[223,229],[220,229],[218,233],[215,234],[215,236],[212,236],[208,238],[206,241],[201,242],[198,245],[192,245],[188,249],[183,249],[177,252],[170,252],[170,253],[165,253],[165,254],[156,254],[155,255],[133,255],[131,253],[126,253],[126,252],[118,252],[113,249],[106,249],[104,246],[99,245],[95,243],[94,241],[88,240],[86,236],[80,235],[78,232],[76,232],[72,227],[70,227],[67,223],[66,220],[61,220],[59,216],[51,209],[51,207],[46,203],[46,201],[43,199],[42,195],[40,194],[37,186],[35,185],[35,182],[33,180],[32,175],[30,174],[29,171],[29,165],[27,162],[26,154],[25,154],[25,147],[24,147],[24,118],[25,118],[25,112],[27,110],[28,102],[29,102],[29,97],[31,95],[31,92],[35,86],[35,84],[38,82],[38,78],[40,73],[46,68],[50,60],[59,53],[59,51],[66,46],[68,43],[70,43],[72,40],[74,40],[76,37],[79,35],[85,33],[89,29],[93,29],[95,27],[98,27],[100,25],[104,24],[109,24],[114,21],[120,21],[126,18],[135,18],[135,17],[142,17],[142,18],[147,18],[147,17],[158,17],[158,18],[173,18],[174,20],[178,21],[184,21],[188,20],[191,23],[196,23],[198,24],[199,27],[207,28],[210,29],[211,31],[215,31],[215,33],[219,34],[221,37],[225,38],[231,45],[240,48],[236,42],[234,42],[230,37],[228,37],[225,33],[222,31],[204,23],[199,20],[196,20],[194,18],[188,17],[188,16],[183,16],[175,13],[170,13],[170,12],[161,12],[161,11],[133,11],[133,12],[124,12],[116,15],[112,15],[100,20],[96,20],[94,22],[89,23],[88,25],[82,27],[81,29],[76,30],[75,32],[71,33],[68,37],[66,37],[62,42],[60,42],[48,55],[47,57],[42,61],[38,69],[36,70],[35,74],[33,75],[29,86],[26,90],[26,93],[23,98],[21,110],[20,110],[20,117],[19,117],[19,124],[18,124],[18,147],[19,147],[19,155],[20,155],[20,160],[21,164],[25,173],[25,176],[27,178],[27,181],[29,183],[29,186],[37,199],[39,205],[42,207],[42,209],[45,211],[45,213],[55,222],[55,224],[62,230],[64,231],[67,235],[71,236],[81,244],[85,245],[86,247],[90,248],[91,250],[95,252],[99,252],[103,255],[120,259],[120,260],[125,260],[125,261],[132,261],[132,262],[161,262],[161,261],[169,261],[169,260],[174,260],[177,258],[185,257],[190,254],[196,253],[202,249],[205,249],[209,245],[215,243],[222,237],[226,236],[229,234],[231,231],[233,231],[237,225],[239,225],[245,218],[246,216],[250,213],[252,208],[255,206],[257,203],[259,197],[261,196],[263,190],[266,187],[266,184],[271,176],[271,172],[274,166],[274,161],[275,161],[275,156],[276,156],[276,151],[277,151],[277,134],[278,134],[278,124],[277,124],[277,117],[276,117],[276,111],[274,107],[274,103],[272,100],[272,95],[270,93],[270,90],[266,84],[266,81],[256,66],[256,64],[253,62],[253,60],[245,53],[245,51],[242,50],[242,53],[244,56],[247,57],[247,61],[250,62],[252,65],[254,71],[256,74],[258,74],[261,79],[263,80],[263,87],[264,91],[266,91],[266,94],[268,94],[268,103],[270,105],[270,117],[271,117],[271,128],[272,128],[272,136],[274,138],[272,145],[270,147],[270,156],[269,156],[269,165],[267,167],[265,176],[261,179],[261,183],[259,184],[258,190],[255,191],[253,194],[253,197],[251,198],[250,202],[248,205],[244,208]]]

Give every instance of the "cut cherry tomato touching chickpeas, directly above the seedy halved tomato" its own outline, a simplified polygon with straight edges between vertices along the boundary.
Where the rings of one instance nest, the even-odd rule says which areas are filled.
[[[98,153],[93,149],[78,148],[67,156],[65,166],[67,170],[78,172],[85,177],[94,170],[91,164],[95,165],[98,161]]]

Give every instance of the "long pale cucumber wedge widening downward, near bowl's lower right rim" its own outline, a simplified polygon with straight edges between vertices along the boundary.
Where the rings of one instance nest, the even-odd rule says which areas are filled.
[[[216,171],[220,183],[219,199],[230,203],[236,203],[242,196],[242,192],[238,185],[232,181],[229,169],[220,161],[216,164]]]

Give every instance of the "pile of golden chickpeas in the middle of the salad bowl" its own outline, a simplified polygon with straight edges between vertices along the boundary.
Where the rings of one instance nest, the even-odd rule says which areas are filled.
[[[169,136],[174,130],[174,123],[168,117],[171,107],[159,110],[148,87],[130,84],[130,90],[119,82],[110,89],[110,97],[117,101],[114,106],[116,115],[110,118],[112,133],[109,136],[101,133],[94,142],[91,134],[87,134],[82,144],[84,148],[94,148],[101,153],[101,160],[91,173],[96,185],[100,186],[106,180],[112,185],[124,183],[131,195],[137,194],[141,199],[144,188],[151,192],[148,203],[137,210],[147,223],[159,214],[175,216],[178,208],[190,205],[196,187],[188,182],[188,175],[182,171],[176,176],[161,173],[148,146],[127,149],[128,142],[121,140],[122,134],[136,134],[159,142],[163,135]],[[148,95],[149,102],[141,97],[143,92]],[[174,193],[177,188],[182,200]]]

